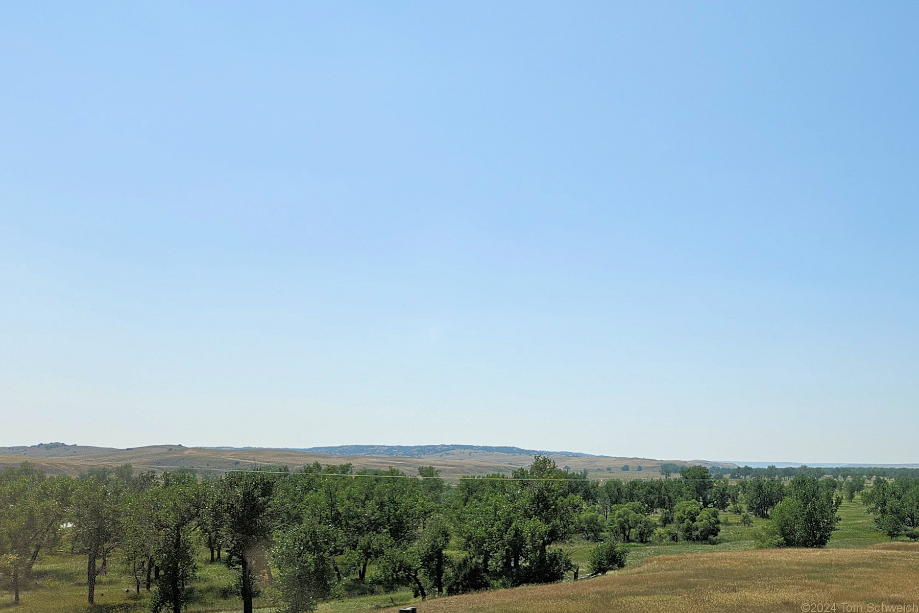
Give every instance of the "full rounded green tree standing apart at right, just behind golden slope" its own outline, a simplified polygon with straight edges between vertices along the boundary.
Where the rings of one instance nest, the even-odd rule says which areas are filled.
[[[842,498],[822,488],[815,477],[795,476],[788,495],[772,511],[772,540],[780,547],[823,547],[840,520],[836,510],[841,503]]]

